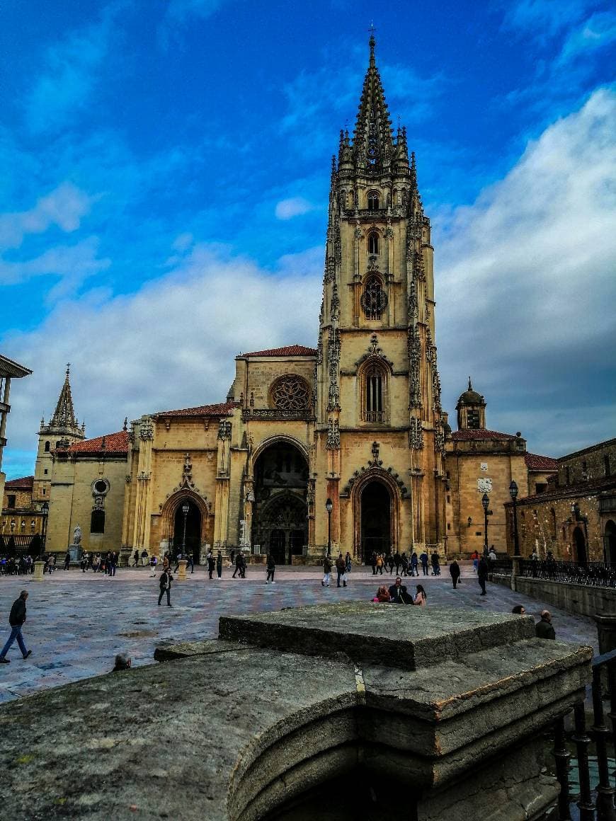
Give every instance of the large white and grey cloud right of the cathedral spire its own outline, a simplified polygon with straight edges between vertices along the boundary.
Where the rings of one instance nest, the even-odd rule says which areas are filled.
[[[612,435],[601,409],[616,384],[615,133],[616,94],[599,89],[529,144],[503,181],[448,217],[441,239],[435,232],[447,404],[470,372],[493,398],[489,426],[512,408],[532,420],[533,409],[550,406],[551,429],[537,415],[522,430],[531,448],[570,440],[563,411],[572,406],[586,406],[587,444],[595,415]]]

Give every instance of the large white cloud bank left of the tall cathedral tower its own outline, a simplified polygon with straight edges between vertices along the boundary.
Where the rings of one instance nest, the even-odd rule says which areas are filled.
[[[136,294],[92,291],[57,305],[31,333],[8,334],[2,352],[34,370],[11,394],[9,453],[34,447],[33,431],[53,410],[65,362],[76,412],[96,436],[119,430],[125,415],[224,401],[240,351],[314,346],[322,250],[314,268],[311,253],[283,258],[266,273],[195,245]]]

